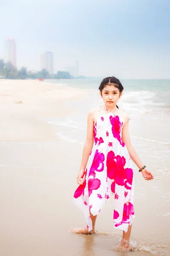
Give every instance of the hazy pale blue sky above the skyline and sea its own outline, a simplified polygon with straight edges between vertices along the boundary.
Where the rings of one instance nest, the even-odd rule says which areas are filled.
[[[85,76],[170,78],[170,0],[0,0],[0,58],[6,37],[17,67],[54,71],[79,60]]]

